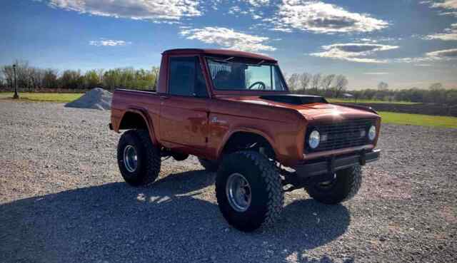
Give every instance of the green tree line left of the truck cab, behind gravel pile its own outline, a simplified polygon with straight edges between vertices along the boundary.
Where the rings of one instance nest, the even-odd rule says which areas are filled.
[[[86,90],[101,87],[136,88],[154,90],[159,75],[158,67],[151,69],[114,68],[109,70],[92,69],[82,73],[80,70],[57,71],[53,68],[29,66],[26,61],[16,61],[16,82],[21,91],[40,89]],[[0,68],[0,88],[14,88],[13,65]]]

